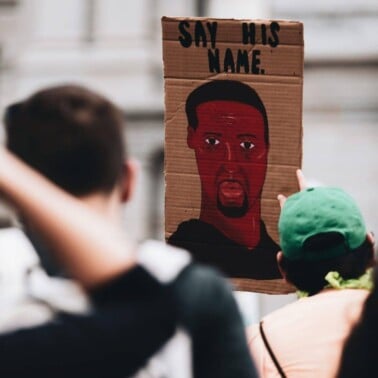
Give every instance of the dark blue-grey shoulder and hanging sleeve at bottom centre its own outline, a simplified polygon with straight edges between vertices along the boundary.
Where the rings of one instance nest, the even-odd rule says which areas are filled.
[[[213,269],[190,264],[171,286],[192,341],[193,376],[257,377],[229,284]]]

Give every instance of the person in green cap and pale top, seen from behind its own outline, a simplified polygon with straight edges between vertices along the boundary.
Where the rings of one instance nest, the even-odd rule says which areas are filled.
[[[247,329],[264,377],[333,377],[342,346],[372,286],[373,235],[353,200],[339,188],[306,188],[278,196],[278,267],[300,299]]]

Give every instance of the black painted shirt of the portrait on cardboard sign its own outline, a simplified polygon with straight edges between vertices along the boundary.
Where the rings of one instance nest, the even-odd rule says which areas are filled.
[[[215,266],[228,277],[281,278],[276,260],[280,247],[268,235],[262,221],[260,241],[253,250],[227,238],[213,225],[199,219],[182,222],[168,243],[188,250],[196,261]]]

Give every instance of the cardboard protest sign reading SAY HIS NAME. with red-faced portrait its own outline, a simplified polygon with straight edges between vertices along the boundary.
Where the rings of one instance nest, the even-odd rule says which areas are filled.
[[[277,194],[302,160],[303,25],[163,18],[166,238],[239,290],[291,291]]]

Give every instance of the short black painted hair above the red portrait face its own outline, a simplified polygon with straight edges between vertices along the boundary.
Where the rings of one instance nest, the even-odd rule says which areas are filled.
[[[209,101],[235,101],[256,108],[264,119],[265,143],[269,144],[268,117],[256,91],[240,81],[213,80],[194,89],[186,100],[186,116],[193,129],[198,127],[197,106]]]

